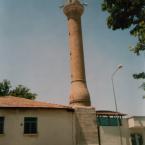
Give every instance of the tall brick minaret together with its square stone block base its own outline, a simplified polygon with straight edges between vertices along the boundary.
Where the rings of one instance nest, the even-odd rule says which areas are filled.
[[[85,77],[81,29],[84,6],[80,0],[66,0],[63,11],[68,20],[71,64],[70,105],[75,109],[76,145],[98,145],[96,111],[91,107]]]

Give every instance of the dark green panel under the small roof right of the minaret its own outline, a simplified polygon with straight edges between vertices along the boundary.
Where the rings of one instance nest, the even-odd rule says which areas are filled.
[[[121,126],[121,118],[119,117],[97,117],[97,124],[100,126]]]

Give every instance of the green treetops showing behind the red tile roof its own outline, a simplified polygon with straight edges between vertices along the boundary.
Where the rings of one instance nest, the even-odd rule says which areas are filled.
[[[0,96],[16,96],[34,100],[37,94],[31,93],[30,89],[23,85],[18,85],[16,88],[12,89],[11,82],[3,80],[0,82]]]

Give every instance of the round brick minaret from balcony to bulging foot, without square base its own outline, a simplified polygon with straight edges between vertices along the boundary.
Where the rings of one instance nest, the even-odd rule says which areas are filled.
[[[80,0],[66,0],[64,14],[68,20],[71,65],[70,105],[90,106],[90,95],[86,84],[81,15],[84,6]]]

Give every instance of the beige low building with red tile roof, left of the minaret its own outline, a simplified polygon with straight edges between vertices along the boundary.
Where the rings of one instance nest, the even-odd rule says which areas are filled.
[[[0,97],[0,145],[74,145],[74,110],[18,97]]]

